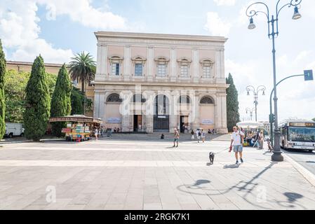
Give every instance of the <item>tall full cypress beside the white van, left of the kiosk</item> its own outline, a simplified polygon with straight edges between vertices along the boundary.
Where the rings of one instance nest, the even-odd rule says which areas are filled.
[[[34,60],[25,92],[25,137],[39,141],[46,132],[51,110],[45,66],[40,55]]]

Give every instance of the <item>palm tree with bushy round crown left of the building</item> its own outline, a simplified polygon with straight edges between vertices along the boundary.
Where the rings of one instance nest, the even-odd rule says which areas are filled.
[[[90,53],[81,52],[72,57],[72,62],[69,63],[70,76],[72,81],[81,81],[81,90],[85,94],[84,85],[90,83],[95,78],[96,62]],[[83,109],[85,112],[85,101],[83,102]]]

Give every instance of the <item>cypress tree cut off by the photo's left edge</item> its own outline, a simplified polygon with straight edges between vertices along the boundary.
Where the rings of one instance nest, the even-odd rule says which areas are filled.
[[[6,123],[4,118],[6,116],[6,100],[4,97],[4,75],[6,74],[6,57],[4,55],[4,50],[2,49],[1,39],[0,39],[0,139],[4,137],[6,132]]]

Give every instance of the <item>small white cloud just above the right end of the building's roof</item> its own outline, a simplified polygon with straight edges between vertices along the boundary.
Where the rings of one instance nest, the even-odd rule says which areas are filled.
[[[205,29],[213,36],[227,36],[232,24],[222,20],[215,12],[208,12]]]

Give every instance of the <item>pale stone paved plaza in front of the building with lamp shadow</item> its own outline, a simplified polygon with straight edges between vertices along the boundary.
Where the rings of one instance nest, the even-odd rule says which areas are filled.
[[[244,148],[236,166],[229,135],[179,148],[170,137],[6,144],[0,209],[315,209],[315,187],[268,151]]]

